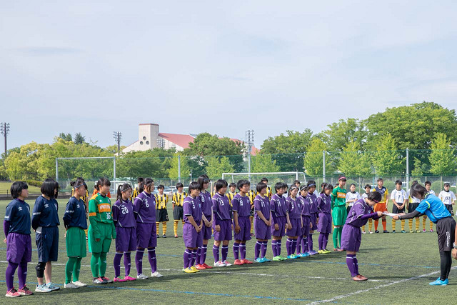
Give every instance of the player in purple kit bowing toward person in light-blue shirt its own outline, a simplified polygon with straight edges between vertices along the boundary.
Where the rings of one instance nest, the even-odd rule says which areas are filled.
[[[349,211],[346,223],[343,226],[343,238],[341,249],[346,250],[346,264],[354,281],[366,281],[368,278],[358,273],[358,261],[356,254],[362,241],[361,227],[366,224],[368,218],[378,219],[382,216],[381,211],[373,212],[372,206],[381,200],[378,191],[372,191],[366,199],[360,199]]]

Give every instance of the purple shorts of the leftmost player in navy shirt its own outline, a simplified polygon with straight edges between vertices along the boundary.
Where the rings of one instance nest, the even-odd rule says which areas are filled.
[[[6,238],[6,261],[19,264],[31,261],[31,237],[27,234],[9,233]]]

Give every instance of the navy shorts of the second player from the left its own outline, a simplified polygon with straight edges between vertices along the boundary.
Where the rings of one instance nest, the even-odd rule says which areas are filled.
[[[39,230],[41,228],[41,230]],[[59,228],[57,226],[42,226],[35,233],[38,262],[57,261],[59,257]]]

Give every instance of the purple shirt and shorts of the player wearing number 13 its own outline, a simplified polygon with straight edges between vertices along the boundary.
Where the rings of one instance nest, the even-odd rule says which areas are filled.
[[[213,196],[213,213],[214,213],[214,240],[215,241],[231,241],[231,207],[229,199],[219,193]],[[220,226],[219,232],[216,231],[216,226]]]

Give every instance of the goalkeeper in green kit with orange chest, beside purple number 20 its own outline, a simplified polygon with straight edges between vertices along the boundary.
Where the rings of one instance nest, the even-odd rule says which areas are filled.
[[[97,182],[98,193],[89,200],[89,252],[92,253],[91,270],[94,284],[113,282],[105,276],[106,254],[109,252],[111,239],[116,239],[111,200],[107,196],[109,186],[111,182],[108,179],[100,178]]]

